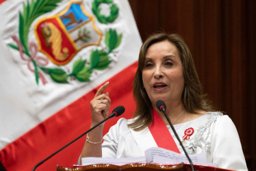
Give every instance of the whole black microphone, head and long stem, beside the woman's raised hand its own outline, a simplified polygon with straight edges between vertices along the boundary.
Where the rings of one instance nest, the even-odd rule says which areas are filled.
[[[70,144],[72,144],[73,142],[77,141],[80,137],[83,137],[84,135],[86,135],[87,133],[89,133],[90,131],[92,131],[92,129],[95,129],[96,127],[98,127],[100,124],[102,124],[103,122],[105,122],[106,120],[109,120],[110,118],[113,117],[118,117],[121,114],[123,114],[125,112],[125,107],[123,106],[118,106],[115,109],[113,109],[112,113],[105,118],[104,120],[102,120],[101,122],[99,122],[98,124],[96,124],[94,127],[92,127],[91,129],[89,129],[88,131],[86,131],[85,133],[81,134],[79,137],[75,138],[75,140],[73,140],[72,142],[66,144],[66,146],[63,146],[62,148],[60,148],[60,150],[57,150],[55,153],[53,153],[52,155],[50,155],[49,157],[47,157],[46,159],[40,161],[39,163],[36,164],[36,166],[34,166],[33,170],[34,171],[38,166],[40,166],[42,163],[44,163],[45,161],[47,161],[48,159],[50,159],[51,157],[53,157],[53,155],[56,155],[57,153],[59,153],[61,150],[63,150],[64,148],[66,148],[67,146],[69,146]]]

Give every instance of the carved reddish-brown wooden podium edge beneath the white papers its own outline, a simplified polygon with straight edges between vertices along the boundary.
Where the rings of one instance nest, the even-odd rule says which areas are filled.
[[[93,170],[93,171],[99,171],[99,170],[149,170],[149,171],[157,171],[157,170],[175,170],[175,171],[190,171],[190,165],[179,163],[177,165],[155,165],[155,164],[149,164],[149,163],[132,163],[132,164],[126,164],[123,166],[116,166],[112,164],[94,164],[89,166],[74,166],[72,168],[66,168],[62,166],[57,166],[57,171],[81,171],[81,170]],[[194,165],[194,170],[200,170],[200,171],[228,171],[227,169],[222,168],[216,168],[212,166],[203,166],[203,165]]]

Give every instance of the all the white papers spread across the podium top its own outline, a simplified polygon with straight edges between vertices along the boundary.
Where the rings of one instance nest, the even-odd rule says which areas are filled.
[[[215,163],[207,163],[206,154],[201,153],[198,155],[190,155],[190,159],[193,164],[199,164],[204,166],[218,167]],[[175,153],[171,150],[164,148],[153,147],[145,151],[145,157],[134,158],[102,158],[102,157],[84,157],[81,159],[82,166],[88,166],[92,164],[112,164],[116,166],[123,166],[129,163],[153,163],[160,165],[174,165],[178,163],[188,163],[189,161],[185,155]]]

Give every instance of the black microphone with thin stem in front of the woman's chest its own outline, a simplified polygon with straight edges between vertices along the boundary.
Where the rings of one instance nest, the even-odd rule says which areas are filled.
[[[183,144],[181,143],[181,140],[179,139],[179,136],[178,136],[178,134],[177,134],[177,132],[176,132],[176,130],[175,130],[175,127],[173,127],[172,122],[170,122],[169,116],[166,114],[166,103],[164,103],[164,101],[158,100],[157,103],[156,103],[156,105],[157,105],[157,108],[158,108],[160,111],[162,111],[162,113],[163,113],[164,116],[166,117],[168,123],[170,124],[170,127],[172,128],[172,131],[175,133],[175,137],[176,137],[177,140],[179,141],[179,144],[181,145],[181,147],[182,147],[182,149],[183,149],[183,151],[184,151],[184,153],[185,153],[185,157],[187,157],[188,161],[190,161],[190,166],[191,166],[192,171],[194,171],[193,163],[192,163],[190,157],[188,156],[188,153],[187,153],[187,151],[185,150]]]

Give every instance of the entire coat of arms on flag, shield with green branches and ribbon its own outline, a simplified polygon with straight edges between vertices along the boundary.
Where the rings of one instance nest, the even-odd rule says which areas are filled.
[[[118,6],[113,0],[94,0],[91,4],[93,14],[86,11],[83,1],[69,1],[64,10],[53,12],[61,0],[31,0],[23,3],[19,12],[18,36],[13,35],[9,47],[19,52],[27,62],[27,68],[35,73],[36,83],[47,83],[45,75],[57,83],[72,80],[90,81],[94,70],[105,70],[112,62],[110,57],[116,53],[122,41],[122,34],[114,28],[101,30],[95,24],[113,23],[118,17]],[[101,14],[101,4],[110,8],[110,14]],[[40,17],[44,15],[44,17]],[[96,16],[96,17],[95,17]],[[38,19],[40,18],[40,19]],[[34,27],[35,40],[29,42],[29,28]],[[75,59],[79,51],[88,47],[90,54]],[[43,55],[38,55],[38,51]],[[74,60],[75,59],[75,60]],[[72,67],[65,67],[72,63]]]

